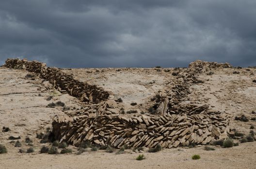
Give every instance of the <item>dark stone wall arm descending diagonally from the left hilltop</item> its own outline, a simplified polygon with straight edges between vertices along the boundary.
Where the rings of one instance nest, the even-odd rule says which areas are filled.
[[[14,69],[26,69],[40,74],[40,77],[48,80],[61,92],[67,92],[71,96],[79,98],[84,102],[99,103],[112,97],[111,92],[104,91],[103,88],[75,80],[57,68],[48,68],[45,63],[37,61],[27,61],[26,59],[7,59],[5,67]]]

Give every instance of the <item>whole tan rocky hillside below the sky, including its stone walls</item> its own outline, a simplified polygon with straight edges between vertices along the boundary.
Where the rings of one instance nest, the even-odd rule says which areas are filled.
[[[8,59],[0,74],[4,169],[256,168],[255,142],[241,141],[255,137],[256,68],[195,61],[188,68],[57,69]],[[228,137],[239,146],[213,145]],[[54,140],[72,154],[40,154]],[[93,147],[76,155],[85,142]],[[163,150],[148,152],[157,145]],[[104,146],[128,149],[91,151]],[[140,154],[146,159],[135,160]]]

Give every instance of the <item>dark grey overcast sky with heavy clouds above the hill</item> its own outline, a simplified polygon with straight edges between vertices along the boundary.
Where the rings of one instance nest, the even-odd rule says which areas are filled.
[[[256,66],[256,0],[0,0],[0,64]]]

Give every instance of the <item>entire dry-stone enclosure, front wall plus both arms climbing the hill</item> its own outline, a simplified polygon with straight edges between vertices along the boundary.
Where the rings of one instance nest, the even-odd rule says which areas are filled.
[[[61,69],[48,68],[46,64],[26,59],[7,59],[4,65],[25,69],[40,75],[57,90],[68,93],[86,103],[84,111],[55,116],[52,122],[55,139],[80,146],[83,141],[119,148],[188,146],[191,143],[208,144],[226,138],[230,117],[213,111],[210,105],[190,102],[190,86],[202,83],[197,75],[206,68],[230,68],[227,63],[192,62],[178,72],[170,87],[164,87],[155,96],[152,112],[122,114],[113,99],[113,93],[96,85],[75,80]]]

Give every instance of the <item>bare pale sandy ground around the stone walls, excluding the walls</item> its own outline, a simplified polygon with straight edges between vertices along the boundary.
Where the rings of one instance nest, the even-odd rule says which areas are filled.
[[[86,71],[91,71],[87,73]],[[174,76],[171,72],[149,69],[76,69],[64,70],[91,84],[111,90],[116,97],[122,97],[124,104],[129,106],[131,101],[146,104],[158,90],[166,86]],[[233,74],[234,69],[215,70],[213,75],[200,75],[203,84],[191,87],[190,98],[196,104],[210,104],[213,109],[236,115],[245,114],[256,117],[252,111],[256,110],[256,69],[239,70],[240,74]],[[254,73],[254,74],[252,74]],[[48,155],[39,154],[39,139],[36,133],[45,131],[51,126],[51,119],[63,112],[62,107],[48,108],[51,102],[63,101],[66,106],[80,109],[84,106],[76,98],[61,94],[55,89],[48,89],[42,84],[43,80],[24,78],[28,74],[25,70],[11,70],[0,68],[0,128],[10,127],[9,132],[1,132],[0,144],[7,147],[8,153],[0,155],[0,169],[256,169],[256,141],[240,143],[237,147],[215,147],[215,151],[205,151],[203,146],[196,148],[164,149],[158,153],[134,153],[126,150],[125,154],[109,154],[103,150],[85,152],[81,155]],[[91,77],[91,78],[90,78]],[[153,83],[155,81],[155,83]],[[150,83],[152,82],[152,83]],[[103,85],[104,84],[104,85]],[[125,94],[124,94],[125,93]],[[52,100],[47,101],[49,96]],[[71,110],[72,111],[72,110]],[[250,126],[256,127],[256,121],[232,121],[231,126],[245,134]],[[254,129],[256,132],[256,129]],[[10,143],[9,136],[21,136],[22,147],[29,148],[24,140],[28,136],[33,141],[35,152],[32,154],[18,153],[19,147]],[[73,153],[77,148],[72,148]],[[146,159],[135,160],[136,156],[144,154]],[[201,159],[192,160],[194,154],[201,155]]]

